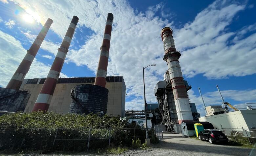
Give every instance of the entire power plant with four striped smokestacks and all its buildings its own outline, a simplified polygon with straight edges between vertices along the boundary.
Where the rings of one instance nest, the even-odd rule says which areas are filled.
[[[189,99],[187,92],[192,86],[183,79],[179,62],[181,52],[175,47],[173,30],[169,27],[161,30],[163,60],[167,63],[167,67],[163,79],[157,82],[154,88],[157,103],[147,104],[145,100],[144,110],[125,110],[124,78],[107,76],[113,19],[113,14],[108,13],[95,77],[59,78],[79,20],[77,16],[73,16],[47,77],[25,79],[53,23],[53,20],[48,19],[6,88],[0,88],[0,115],[32,111],[84,115],[92,113],[98,116],[107,114],[112,117],[120,116],[130,123],[146,128],[157,127],[156,132],[182,133],[186,137],[195,135],[195,125],[209,129],[222,129],[223,125],[231,129],[256,127],[253,120],[256,109],[250,104],[244,108],[225,102],[218,85],[216,87],[222,104],[214,106],[207,106],[207,101],[205,106],[203,94],[198,87],[205,111],[205,116],[200,116],[196,104]],[[233,130],[230,132],[242,133]],[[243,130],[244,132],[247,133]]]

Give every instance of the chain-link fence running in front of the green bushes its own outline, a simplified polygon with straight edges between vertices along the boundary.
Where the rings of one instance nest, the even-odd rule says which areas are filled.
[[[148,129],[150,138],[155,129]],[[0,129],[0,150],[89,151],[128,146],[146,138],[145,128],[19,128]]]

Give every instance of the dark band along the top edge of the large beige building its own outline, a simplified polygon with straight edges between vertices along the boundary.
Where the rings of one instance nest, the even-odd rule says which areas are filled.
[[[26,84],[43,84],[45,78],[37,79],[26,79]],[[69,78],[59,78],[58,84],[67,84],[67,83],[94,83],[95,77],[69,77]],[[122,76],[107,76],[106,82],[122,82]]]

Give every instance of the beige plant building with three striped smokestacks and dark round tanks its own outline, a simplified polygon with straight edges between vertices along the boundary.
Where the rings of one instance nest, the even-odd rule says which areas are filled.
[[[46,79],[24,80],[37,51],[53,23],[53,20],[48,19],[7,87],[0,88],[0,111],[48,111],[50,108],[50,111],[62,114],[94,113],[99,116],[108,114],[110,116],[119,115],[123,117],[125,109],[124,79],[120,76],[107,77],[113,19],[113,14],[108,13],[103,42],[100,47],[101,51],[96,77],[59,79],[78,23],[78,17],[74,16],[60,48],[58,48],[58,52]]]

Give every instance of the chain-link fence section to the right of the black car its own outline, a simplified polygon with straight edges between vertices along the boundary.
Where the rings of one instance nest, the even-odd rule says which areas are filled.
[[[245,145],[256,144],[256,129],[222,128],[222,131],[228,137],[229,141]]]

